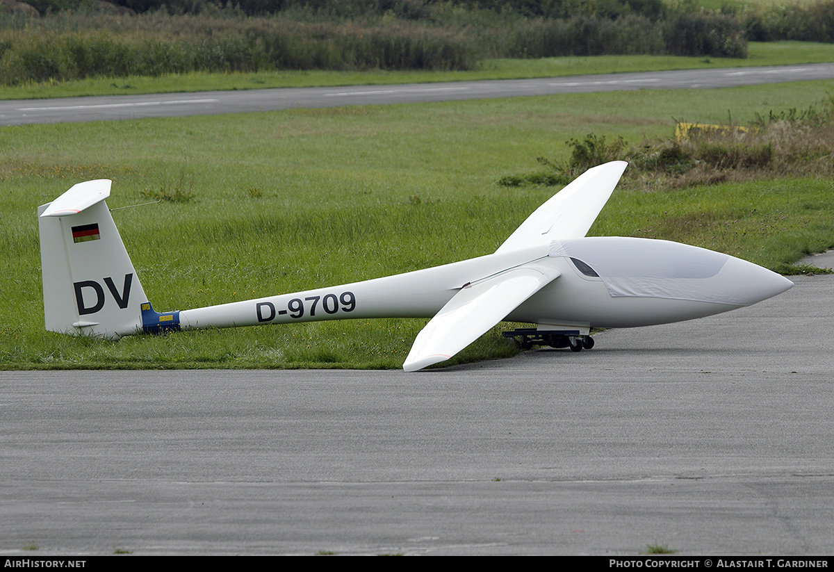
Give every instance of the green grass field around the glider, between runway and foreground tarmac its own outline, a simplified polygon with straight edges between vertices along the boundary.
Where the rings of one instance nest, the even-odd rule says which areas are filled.
[[[425,324],[354,320],[118,343],[47,333],[35,208],[73,183],[113,178],[108,205],[117,208],[188,182],[190,200],[113,213],[154,308],[188,309],[490,253],[554,192],[497,180],[535,168],[542,155],[566,158],[570,138],[639,143],[670,136],[672,118],[716,122],[729,111],[745,122],[819,103],[830,89],[811,82],[0,128],[0,368],[397,368]],[[675,238],[778,267],[834,244],[831,190],[829,180],[796,179],[617,191],[591,233]],[[702,213],[710,224],[696,232],[681,224]],[[513,353],[488,334],[455,361]]]

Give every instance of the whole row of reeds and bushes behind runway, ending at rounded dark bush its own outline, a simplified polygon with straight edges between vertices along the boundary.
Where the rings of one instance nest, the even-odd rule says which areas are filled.
[[[326,1],[319,12],[287,3],[292,9],[259,18],[245,17],[231,4],[218,8],[198,0],[183,3],[183,13],[173,16],[157,11],[126,17],[92,8],[40,19],[0,13],[0,83],[191,71],[468,70],[480,58],[746,55],[741,24],[716,13],[678,13],[664,21],[627,10],[616,18],[589,10],[567,19],[528,19],[421,0],[346,6],[358,10],[360,4],[367,6],[356,19],[334,16],[342,12]],[[383,6],[392,8],[380,13]],[[429,17],[411,19],[420,11]]]

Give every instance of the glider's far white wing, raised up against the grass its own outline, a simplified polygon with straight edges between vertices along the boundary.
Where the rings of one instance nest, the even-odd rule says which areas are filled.
[[[584,237],[627,166],[625,161],[612,161],[588,169],[536,208],[495,252],[549,244],[559,238]]]

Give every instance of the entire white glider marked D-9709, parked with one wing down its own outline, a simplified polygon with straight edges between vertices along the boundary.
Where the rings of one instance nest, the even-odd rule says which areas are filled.
[[[756,304],[793,283],[754,263],[649,238],[585,237],[625,162],[590,168],[542,204],[495,253],[356,282],[158,313],[104,202],[108,179],[78,183],[38,208],[46,329],[118,339],[179,329],[326,319],[430,318],[405,359],[450,359],[502,320],[579,351],[590,328],[633,328]],[[556,345],[553,342],[553,345]]]

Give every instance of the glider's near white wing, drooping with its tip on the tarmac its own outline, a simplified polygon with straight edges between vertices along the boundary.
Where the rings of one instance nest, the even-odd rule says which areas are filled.
[[[533,263],[465,286],[417,334],[403,369],[450,359],[559,275]]]

